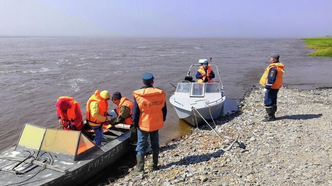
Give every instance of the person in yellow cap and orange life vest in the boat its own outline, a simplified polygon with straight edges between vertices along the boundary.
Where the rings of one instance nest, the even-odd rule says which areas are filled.
[[[86,103],[86,121],[94,131],[94,144],[101,146],[103,141],[103,125],[108,124],[108,100],[110,95],[107,90],[96,90]]]

